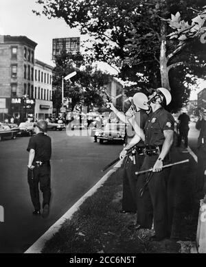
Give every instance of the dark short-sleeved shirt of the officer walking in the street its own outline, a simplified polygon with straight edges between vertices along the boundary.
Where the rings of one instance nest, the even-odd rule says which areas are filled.
[[[35,150],[34,161],[49,161],[52,155],[52,141],[51,138],[43,132],[30,137],[27,151]]]

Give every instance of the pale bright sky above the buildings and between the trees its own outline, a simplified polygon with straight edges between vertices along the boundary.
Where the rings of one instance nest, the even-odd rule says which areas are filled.
[[[52,62],[52,39],[79,37],[77,29],[70,29],[62,19],[47,19],[45,16],[36,16],[32,10],[39,10],[35,0],[0,0],[0,34],[11,36],[27,36],[38,43],[35,49],[35,58],[49,65]],[[80,36],[86,40],[87,36]],[[113,68],[101,63],[102,70],[116,74]],[[190,100],[196,100],[197,93],[206,88],[206,81],[201,81],[190,95]]]

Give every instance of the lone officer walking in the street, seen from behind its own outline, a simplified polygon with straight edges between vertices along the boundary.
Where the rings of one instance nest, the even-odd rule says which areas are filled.
[[[30,195],[34,205],[34,215],[41,214],[41,205],[39,202],[39,190],[43,192],[43,218],[49,215],[49,201],[51,198],[50,159],[52,155],[51,138],[47,132],[47,121],[41,119],[34,123],[36,135],[30,137],[27,147],[29,154],[27,178],[30,186]]]

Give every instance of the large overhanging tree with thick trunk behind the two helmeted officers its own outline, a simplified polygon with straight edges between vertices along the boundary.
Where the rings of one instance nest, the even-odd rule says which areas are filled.
[[[181,12],[185,19],[192,18],[193,10],[200,8],[201,0],[84,0],[37,1],[43,6],[43,14],[65,19],[70,27],[79,27],[82,34],[93,37],[93,60],[108,62],[119,68],[119,78],[137,82],[144,89],[164,86],[190,93],[186,82],[199,75],[205,64],[203,47],[197,50],[196,41],[187,47],[178,46],[167,38],[172,29],[168,25],[171,14]],[[183,62],[183,63],[182,63]],[[175,71],[183,77],[171,82]],[[188,78],[187,73],[190,74]],[[179,83],[179,84],[177,84]],[[172,85],[171,85],[172,84]],[[181,86],[184,84],[184,86]],[[185,99],[185,97],[181,97]],[[182,103],[181,103],[182,104]],[[172,109],[181,105],[173,102]]]

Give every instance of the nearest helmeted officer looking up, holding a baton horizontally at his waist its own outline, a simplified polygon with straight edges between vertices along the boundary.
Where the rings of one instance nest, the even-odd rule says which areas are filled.
[[[137,179],[137,223],[142,228],[151,229],[154,218],[155,236],[152,240],[160,241],[170,237],[172,229],[171,210],[168,209],[170,169],[163,169],[163,165],[170,162],[174,118],[163,108],[171,101],[167,89],[158,88],[148,98],[152,113],[148,117],[144,128],[145,135],[142,137],[145,138],[146,156],[141,170],[153,170],[149,174],[139,175]],[[143,194],[139,194],[143,189]]]

